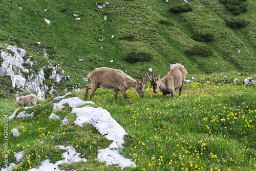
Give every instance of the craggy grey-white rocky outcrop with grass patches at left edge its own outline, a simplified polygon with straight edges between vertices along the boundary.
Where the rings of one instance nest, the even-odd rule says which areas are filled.
[[[33,57],[26,55],[26,51],[22,48],[13,46],[1,46],[5,50],[0,50],[0,76],[10,76],[12,87],[23,89],[27,92],[37,92],[37,96],[40,99],[45,99],[45,94],[49,90],[49,87],[45,84],[45,73],[43,66],[39,66],[41,69],[33,69],[35,65],[41,65]],[[2,63],[1,63],[2,61]],[[38,68],[38,67],[37,67]],[[69,76],[64,75],[58,65],[53,66],[51,63],[47,66],[50,71],[49,79],[53,79],[54,82],[59,82]],[[51,90],[53,88],[50,88]],[[54,90],[54,89],[53,89]]]

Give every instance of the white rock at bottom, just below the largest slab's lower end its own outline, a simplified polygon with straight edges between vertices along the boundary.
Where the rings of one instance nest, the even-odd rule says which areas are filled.
[[[122,168],[136,167],[136,164],[131,159],[122,156],[118,150],[100,149],[97,156],[97,159],[106,162],[106,165],[119,164]]]

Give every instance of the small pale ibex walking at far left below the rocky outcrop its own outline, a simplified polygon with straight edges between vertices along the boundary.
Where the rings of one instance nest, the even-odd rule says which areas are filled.
[[[29,106],[29,105],[36,105],[36,101],[39,100],[34,94],[29,94],[25,96],[18,97],[17,94],[13,95],[14,101],[17,105],[21,106],[22,108]]]

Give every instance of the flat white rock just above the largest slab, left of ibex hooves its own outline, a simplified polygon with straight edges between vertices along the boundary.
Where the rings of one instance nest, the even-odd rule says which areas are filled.
[[[84,104],[92,104],[95,105],[95,103],[91,102],[91,101],[82,101],[80,100],[78,97],[70,97],[69,99],[62,99],[59,103],[55,104],[53,106],[53,110],[61,110],[62,108],[64,108],[65,106],[63,106],[63,104],[68,103],[70,107],[72,108],[76,108],[80,105],[84,105]]]

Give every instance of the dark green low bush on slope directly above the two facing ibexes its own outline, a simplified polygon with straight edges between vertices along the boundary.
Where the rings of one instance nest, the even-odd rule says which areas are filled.
[[[150,53],[145,52],[131,52],[129,54],[125,54],[124,60],[131,63],[148,62],[152,60],[152,56]]]

